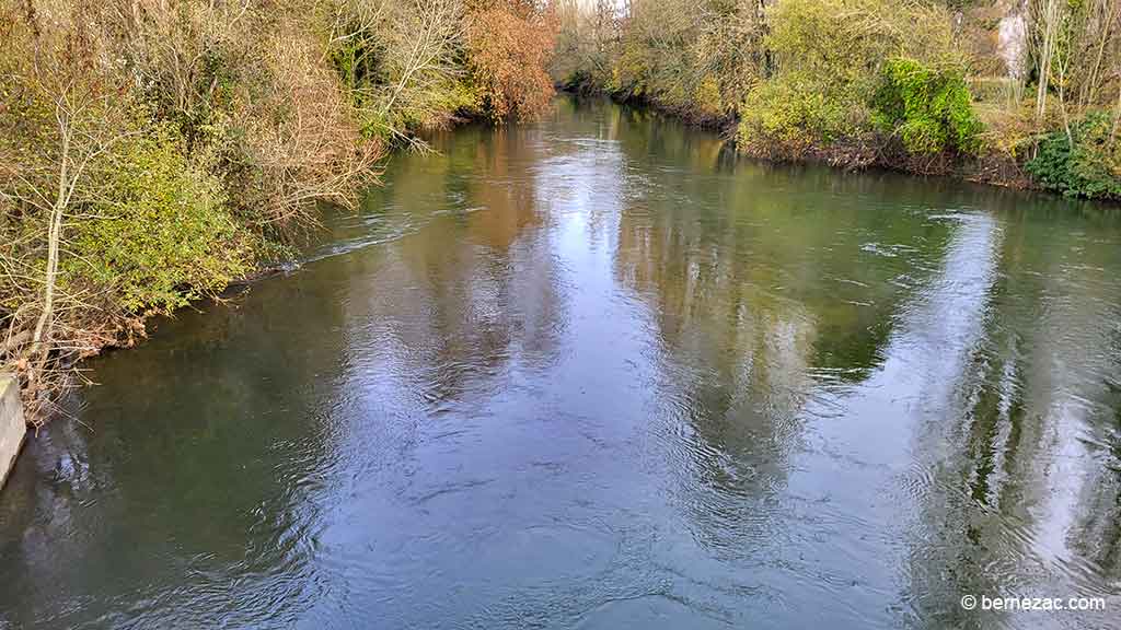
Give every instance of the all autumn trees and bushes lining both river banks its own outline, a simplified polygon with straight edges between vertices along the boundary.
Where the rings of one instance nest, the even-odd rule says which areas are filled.
[[[1117,0],[0,0],[0,369],[36,417],[388,151],[554,84],[770,159],[1121,198]]]

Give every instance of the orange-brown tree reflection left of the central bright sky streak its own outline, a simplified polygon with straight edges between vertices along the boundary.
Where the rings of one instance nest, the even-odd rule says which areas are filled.
[[[438,155],[401,158],[386,203],[424,189],[439,216],[350,272],[349,317],[391,323],[352,339],[354,352],[372,352],[428,404],[485,391],[515,358],[552,358],[565,316],[532,168],[539,135],[474,128],[437,142]]]

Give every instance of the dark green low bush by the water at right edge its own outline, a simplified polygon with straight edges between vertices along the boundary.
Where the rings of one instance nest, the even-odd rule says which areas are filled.
[[[1121,142],[1108,112],[1094,111],[1047,136],[1028,173],[1044,188],[1066,196],[1121,200]]]

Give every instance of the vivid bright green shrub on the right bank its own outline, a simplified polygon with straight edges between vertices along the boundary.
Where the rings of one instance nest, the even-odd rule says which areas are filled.
[[[872,96],[872,121],[912,154],[976,152],[981,122],[972,101],[960,71],[892,57]]]

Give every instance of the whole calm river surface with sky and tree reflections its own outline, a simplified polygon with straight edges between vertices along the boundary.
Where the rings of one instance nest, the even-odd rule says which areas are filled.
[[[1121,627],[1115,211],[603,102],[434,142],[86,363],[0,628]]]

